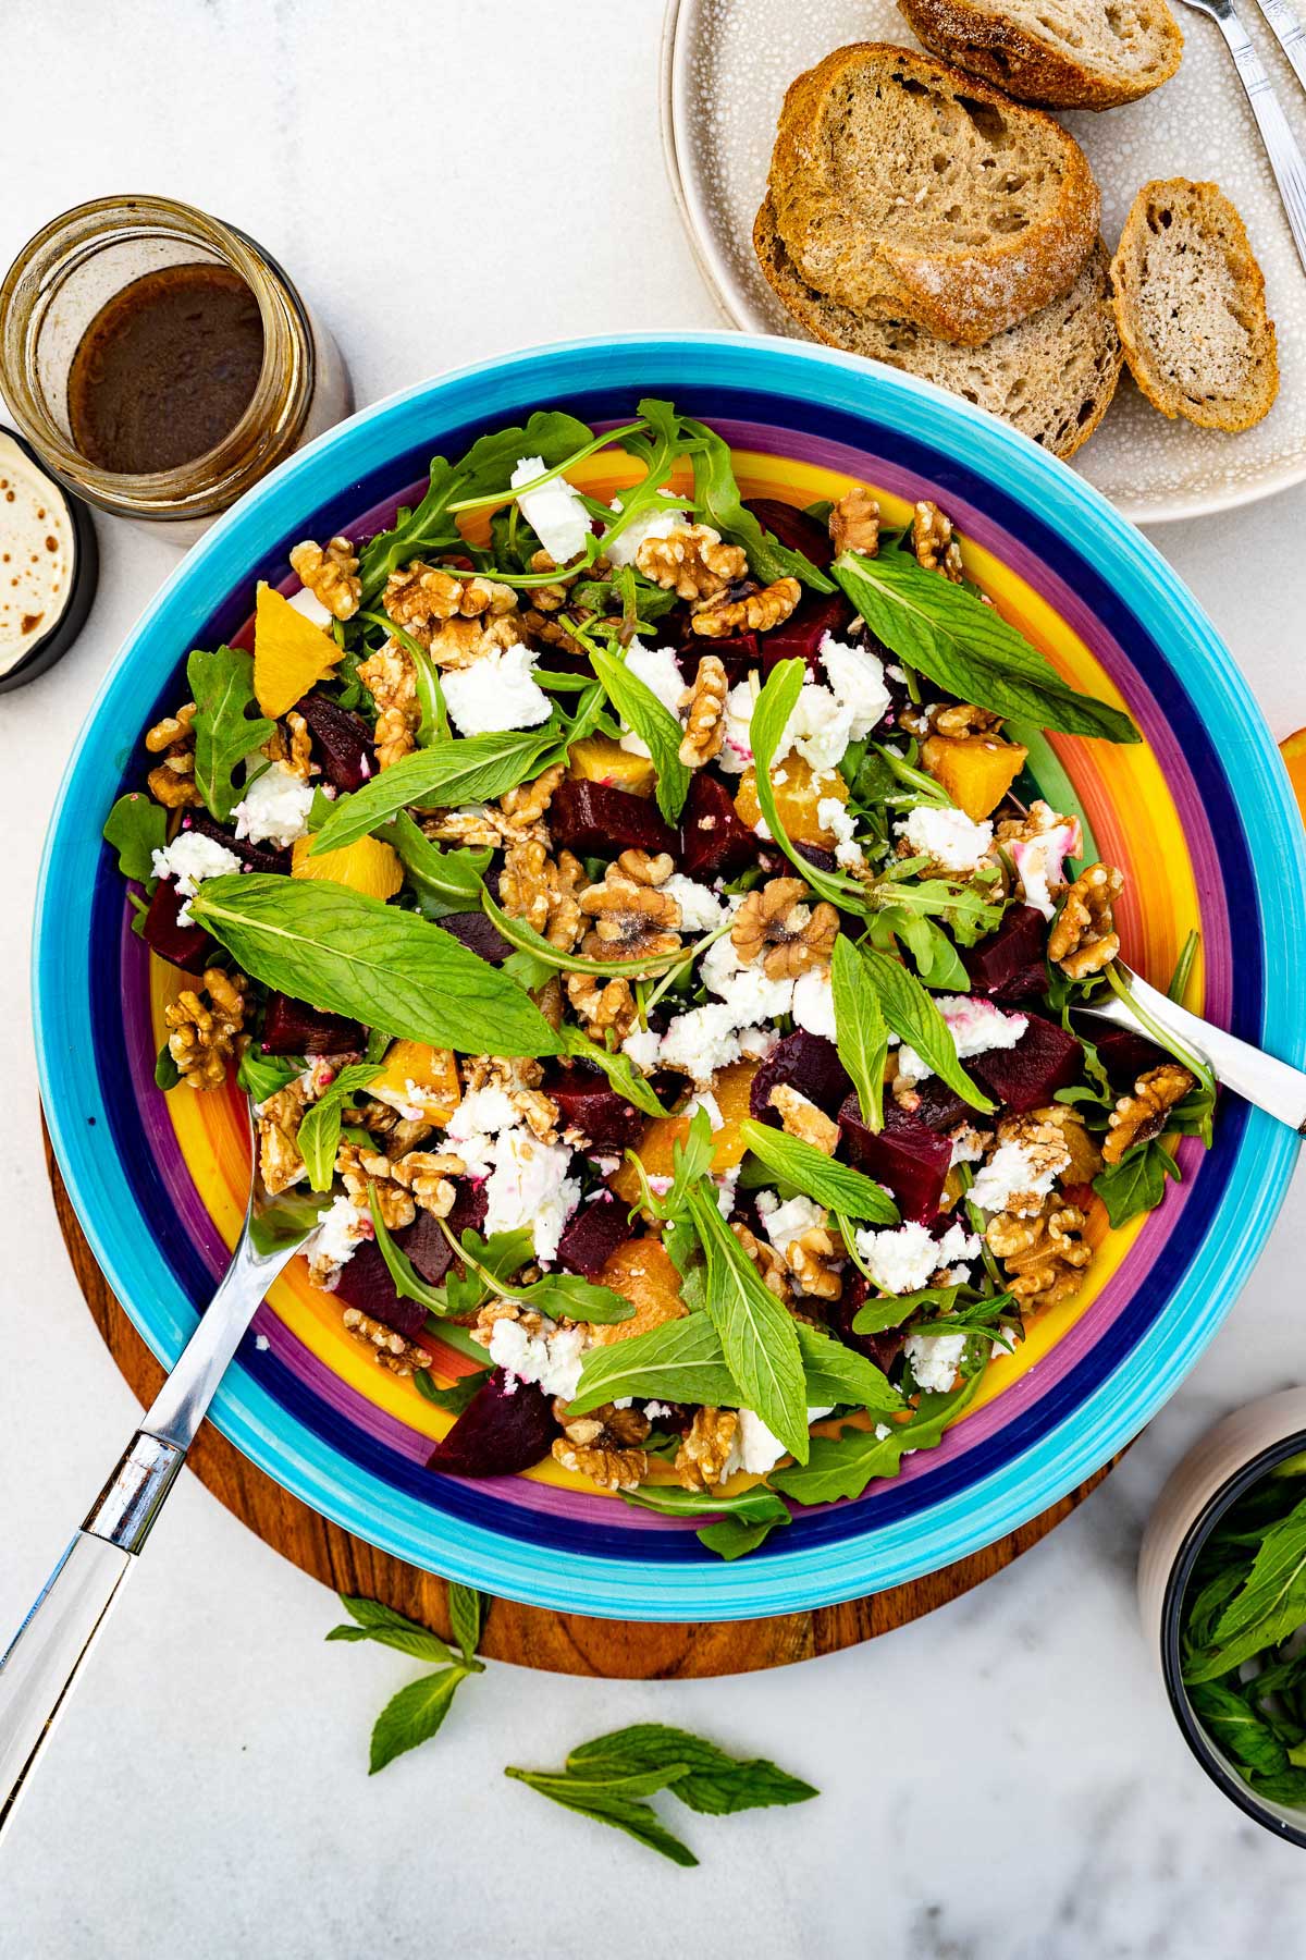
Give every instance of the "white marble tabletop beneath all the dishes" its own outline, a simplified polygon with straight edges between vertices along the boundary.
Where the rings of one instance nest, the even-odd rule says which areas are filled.
[[[51,214],[164,190],[235,220],[319,304],[368,402],[531,339],[715,325],[662,176],[658,0],[10,0],[0,261]],[[1157,533],[1259,694],[1306,723],[1306,490]],[[76,651],[0,700],[0,1633],[133,1405],[78,1298],[41,1168],[25,943],[72,731],[172,553],[100,523]],[[1306,1860],[1189,1760],[1136,1625],[1134,1556],[1216,1415],[1302,1378],[1298,1182],[1202,1364],[1067,1525],[979,1593],[830,1660],[625,1686],[495,1668],[366,1778],[413,1674],[323,1646],[335,1601],[178,1488],[0,1854],[4,1960],[801,1950],[903,1960],[1302,1950]],[[679,1872],[501,1778],[630,1719],[820,1786],[691,1819]]]

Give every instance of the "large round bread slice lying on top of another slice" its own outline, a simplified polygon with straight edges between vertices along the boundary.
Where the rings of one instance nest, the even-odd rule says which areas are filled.
[[[971,345],[1069,292],[1100,218],[1087,157],[1051,116],[877,41],[791,84],[770,190],[811,286]]]

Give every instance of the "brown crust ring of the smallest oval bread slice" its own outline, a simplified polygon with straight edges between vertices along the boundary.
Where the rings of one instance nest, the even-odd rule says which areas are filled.
[[[1173,376],[1167,376],[1163,353],[1151,343],[1143,325],[1140,300],[1147,282],[1151,220],[1175,204],[1189,206],[1190,221],[1200,221],[1206,235],[1216,239],[1237,288],[1241,325],[1251,337],[1251,367],[1247,384],[1236,396],[1196,402]],[[1187,176],[1153,178],[1143,184],[1124,221],[1110,261],[1110,278],[1124,359],[1153,408],[1171,421],[1183,416],[1200,429],[1226,429],[1230,435],[1251,429],[1271,412],[1279,394],[1279,343],[1275,321],[1265,312],[1265,274],[1251,251],[1247,227],[1220,184],[1192,182]]]

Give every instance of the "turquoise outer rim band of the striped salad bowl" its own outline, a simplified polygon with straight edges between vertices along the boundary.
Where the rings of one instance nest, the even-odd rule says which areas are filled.
[[[523,400],[566,400],[597,386],[603,365],[607,386],[646,392],[646,368],[676,365],[677,386],[746,388],[770,394],[789,410],[809,406],[854,414],[867,423],[905,429],[940,455],[965,449],[967,468],[1003,486],[1003,494],[1036,508],[1040,517],[1075,537],[1077,551],[1100,576],[1128,586],[1136,617],[1169,627],[1183,639],[1185,655],[1200,664],[1202,715],[1228,731],[1247,784],[1263,804],[1257,833],[1261,853],[1253,862],[1263,923],[1267,972],[1300,976],[1306,955],[1306,919],[1290,892],[1306,888],[1306,843],[1296,819],[1283,760],[1255,710],[1230,655],[1183,582],[1155,549],[1122,519],[1104,498],[1026,437],[981,410],[944,394],[928,382],[873,368],[856,357],[791,341],[734,333],[613,335],[566,341],[552,347],[474,363],[433,382],[417,384],[350,421],[327,431],[264,478],[190,553],[137,621],[127,645],[90,708],[78,745],[59,790],[37,890],[33,947],[33,1002],[37,1062],[47,1121],[72,1203],[92,1250],[123,1299],[147,1343],[170,1364],[194,1325],[194,1309],[151,1298],[149,1272],[139,1247],[141,1221],[123,1198],[121,1166],[94,1147],[104,1121],[98,1090],[78,1076],[86,1002],[67,986],[74,941],[63,894],[76,890],[76,874],[94,876],[100,853],[98,790],[80,800],[78,786],[94,764],[100,717],[123,694],[121,727],[141,725],[139,690],[127,686],[127,664],[166,619],[170,645],[190,645],[206,623],[213,592],[253,578],[266,555],[266,541],[280,539],[303,508],[339,504],[349,486],[394,465],[413,447],[411,421],[429,408],[433,427],[517,414]],[[525,378],[531,394],[525,394]],[[397,431],[407,427],[403,439]],[[423,437],[427,431],[423,429]],[[439,433],[427,437],[431,447]],[[341,457],[349,474],[341,476]],[[208,592],[206,600],[196,594]],[[1122,600],[1124,604],[1124,600]],[[170,659],[174,664],[174,657]],[[1185,680],[1194,680],[1185,674]],[[116,723],[108,723],[116,725]],[[78,833],[78,821],[82,825]],[[80,864],[78,864],[80,855]],[[1269,868],[1263,868],[1269,866]],[[67,872],[72,872],[69,878]],[[74,966],[74,962],[72,962]],[[1300,982],[1298,982],[1300,986]],[[1259,1039],[1288,1060],[1306,1054],[1306,1017],[1292,1011],[1290,990],[1267,990]],[[1014,1462],[971,1484],[961,1495],[942,1497],[932,1509],[891,1523],[838,1546],[813,1544],[783,1560],[756,1552],[728,1566],[642,1566],[638,1546],[623,1560],[585,1552],[533,1556],[531,1546],[464,1519],[441,1519],[441,1543],[431,1550],[431,1509],[394,1488],[372,1490],[358,1464],[317,1437],[305,1435],[237,1362],[211,1419],[223,1435],[284,1488],[335,1523],[382,1550],[480,1584],[527,1603],[580,1613],[613,1613],[634,1619],[746,1619],[766,1613],[830,1605],[897,1586],[963,1558],[993,1543],[1038,1511],[1055,1503],[1085,1476],[1120,1450],[1175,1390],[1187,1368],[1214,1335],[1234,1303],[1255,1254],[1275,1219],[1296,1160],[1298,1139],[1259,1111],[1249,1111],[1236,1162],[1216,1217],[1228,1221],[1218,1245],[1208,1233],[1183,1286],[1183,1327],[1173,1325],[1177,1303],[1153,1323],[1116,1368],[1065,1417],[1030,1445]],[[149,1301],[149,1305],[145,1305]],[[601,1535],[595,1533],[595,1539]]]

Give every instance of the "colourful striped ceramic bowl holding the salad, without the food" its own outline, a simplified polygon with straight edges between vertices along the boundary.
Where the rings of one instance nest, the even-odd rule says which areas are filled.
[[[1024,786],[1077,809],[1089,849],[1124,868],[1126,956],[1163,982],[1198,925],[1206,1015],[1302,1058],[1306,855],[1283,764],[1190,594],[1096,492],[954,396],[824,349],[703,333],[511,355],[354,416],[231,510],[145,612],[69,764],[37,907],[41,1086],[96,1256],[164,1362],[237,1235],[247,1158],[233,1098],[153,1084],[176,974],[151,968],[100,845],[110,804],[139,780],[139,731],[182,698],[190,647],[249,631],[255,580],[282,582],[300,537],[366,535],[417,500],[433,453],[458,455],[482,429],[562,404],[615,423],[642,394],[715,423],[746,494],[809,504],[856,478],[889,519],[916,498],[952,514],[1006,617],[1143,731],[1126,749],[1038,741]],[[587,488],[621,482],[601,457],[587,465]],[[1181,1145],[1183,1184],[1159,1211],[1120,1233],[1093,1221],[1091,1284],[1032,1323],[938,1450],[854,1503],[799,1513],[736,1564],[556,1466],[497,1482],[427,1472],[448,1419],[372,1366],[298,1268],[260,1309],[213,1421],[337,1523],[490,1592],[632,1619],[848,1599],[965,1556],[1118,1450],[1228,1313],[1294,1154],[1296,1137],[1228,1102],[1210,1154]]]

